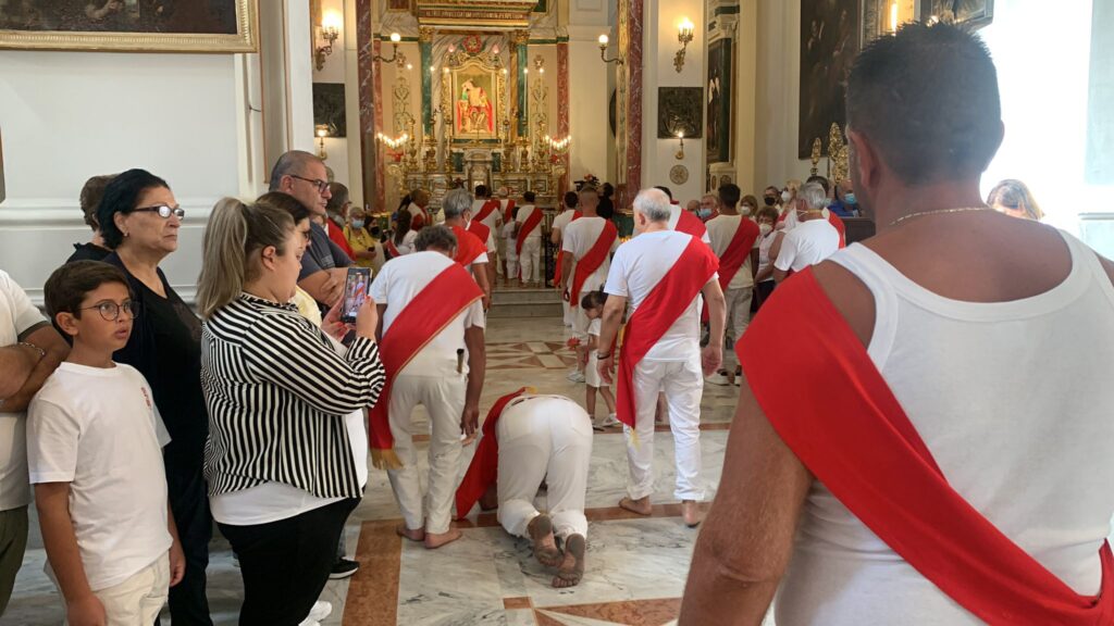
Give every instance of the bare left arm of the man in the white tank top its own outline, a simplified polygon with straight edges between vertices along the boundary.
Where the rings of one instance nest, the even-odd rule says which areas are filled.
[[[723,466],[731,487],[716,493],[696,540],[682,626],[762,624],[812,483],[745,384],[734,424]]]

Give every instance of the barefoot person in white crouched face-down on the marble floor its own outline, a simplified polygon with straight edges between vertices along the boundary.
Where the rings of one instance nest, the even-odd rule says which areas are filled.
[[[571,587],[584,576],[592,419],[568,398],[527,391],[500,398],[488,412],[483,439],[457,490],[457,517],[465,518],[477,500],[483,510],[498,506],[502,528],[530,538],[538,563],[558,568],[553,586]],[[543,482],[545,513],[534,506]]]

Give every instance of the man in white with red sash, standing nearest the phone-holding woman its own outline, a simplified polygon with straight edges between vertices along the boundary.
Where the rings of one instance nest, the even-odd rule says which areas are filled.
[[[383,265],[371,284],[388,378],[371,411],[372,461],[388,470],[404,520],[399,535],[439,548],[460,538],[450,518],[460,436],[475,433],[479,420],[486,359],[482,293],[452,261],[452,231],[427,226],[414,247],[418,252]],[[426,407],[432,427],[426,495],[410,420],[418,404]]]

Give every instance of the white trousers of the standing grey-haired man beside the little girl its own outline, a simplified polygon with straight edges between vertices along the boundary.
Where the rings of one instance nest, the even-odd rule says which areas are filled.
[[[654,412],[657,394],[665,392],[670,408],[670,430],[676,457],[677,483],[673,497],[678,500],[703,500],[700,480],[700,401],[704,393],[704,374],[700,353],[687,361],[651,361],[643,359],[634,370],[635,432],[624,426],[627,441],[627,496],[633,500],[654,492]]]

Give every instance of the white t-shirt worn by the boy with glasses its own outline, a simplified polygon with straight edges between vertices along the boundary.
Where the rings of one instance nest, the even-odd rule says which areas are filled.
[[[170,549],[163,470],[170,436],[153,398],[130,365],[62,363],[28,409],[30,480],[70,483],[74,535],[94,590]]]

